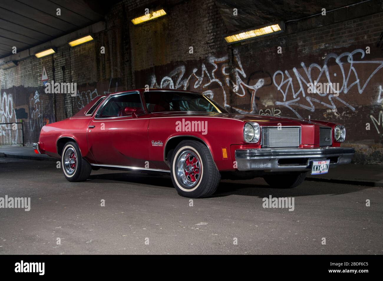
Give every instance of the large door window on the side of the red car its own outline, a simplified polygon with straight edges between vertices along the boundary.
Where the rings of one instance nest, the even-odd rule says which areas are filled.
[[[97,111],[96,118],[131,116],[125,113],[125,107],[135,107],[136,114],[144,113],[139,93],[124,93],[111,96]]]

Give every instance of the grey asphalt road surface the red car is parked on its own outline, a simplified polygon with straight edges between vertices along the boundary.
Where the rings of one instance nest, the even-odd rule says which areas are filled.
[[[382,254],[382,191],[223,180],[191,204],[169,175],[100,169],[72,183],[56,162],[0,158],[0,197],[30,197],[30,211],[0,208],[0,254]],[[270,195],[294,210],[263,208]]]

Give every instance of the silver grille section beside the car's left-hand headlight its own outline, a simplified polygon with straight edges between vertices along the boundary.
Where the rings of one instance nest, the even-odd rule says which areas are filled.
[[[263,147],[299,147],[300,127],[262,127]]]

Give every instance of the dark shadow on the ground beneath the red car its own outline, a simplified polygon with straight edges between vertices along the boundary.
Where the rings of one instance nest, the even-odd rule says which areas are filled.
[[[93,174],[90,175],[87,182],[95,183],[102,182],[108,183],[111,181],[126,182],[127,184],[141,184],[151,185],[158,187],[174,188],[170,175],[153,175],[142,174],[134,172],[123,173],[107,173],[107,174]],[[254,183],[252,183],[254,181]],[[250,182],[250,183],[249,183]],[[211,196],[225,197],[229,195],[245,195],[255,196],[259,198],[269,197],[299,197],[310,195],[340,195],[352,192],[359,192],[364,190],[366,186],[348,185],[348,184],[332,184],[328,182],[316,182],[305,180],[303,184],[298,187],[285,189],[285,188],[270,188],[263,179],[254,180],[237,180],[228,181],[221,180],[218,190]]]

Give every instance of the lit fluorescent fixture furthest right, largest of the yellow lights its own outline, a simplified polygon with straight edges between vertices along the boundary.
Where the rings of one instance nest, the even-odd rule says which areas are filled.
[[[229,44],[246,41],[254,37],[266,36],[285,31],[283,22],[267,24],[255,28],[246,29],[225,36],[226,42]]]

